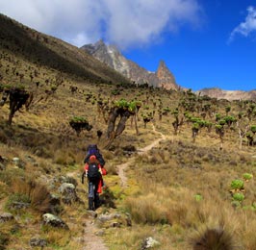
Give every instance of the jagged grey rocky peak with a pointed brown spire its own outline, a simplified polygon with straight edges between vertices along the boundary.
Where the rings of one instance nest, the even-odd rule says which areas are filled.
[[[179,88],[173,74],[163,61],[160,62],[157,72],[149,72],[137,63],[126,59],[115,46],[106,45],[103,40],[94,44],[86,44],[81,49],[87,51],[102,63],[115,68],[116,71],[136,84],[147,83],[149,86],[165,87],[166,89]]]

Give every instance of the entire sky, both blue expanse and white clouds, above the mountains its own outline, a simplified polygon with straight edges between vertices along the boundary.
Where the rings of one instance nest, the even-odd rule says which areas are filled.
[[[78,47],[103,38],[149,71],[164,60],[182,87],[256,89],[255,0],[0,0],[0,13]]]

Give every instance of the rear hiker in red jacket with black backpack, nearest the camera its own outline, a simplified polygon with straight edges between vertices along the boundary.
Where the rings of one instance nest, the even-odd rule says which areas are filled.
[[[84,184],[84,176],[89,181],[89,210],[95,211],[100,206],[99,194],[102,192],[102,175],[106,175],[107,171],[98,162],[96,156],[91,155],[89,162],[86,162],[84,173],[82,175],[82,184]]]

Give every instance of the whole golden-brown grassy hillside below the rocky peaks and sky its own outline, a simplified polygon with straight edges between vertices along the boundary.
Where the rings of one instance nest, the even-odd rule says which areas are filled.
[[[31,249],[35,238],[43,249],[84,249],[91,220],[111,250],[144,249],[149,237],[159,242],[152,249],[255,249],[255,101],[130,87],[77,48],[1,18],[1,93],[21,87],[34,99],[11,126],[10,99],[0,106],[0,249]],[[130,116],[106,148],[105,119],[122,98],[141,103],[139,131]],[[74,116],[92,129],[77,136]],[[81,184],[89,143],[99,145],[109,172],[96,219]],[[44,213],[68,229],[43,223]]]

